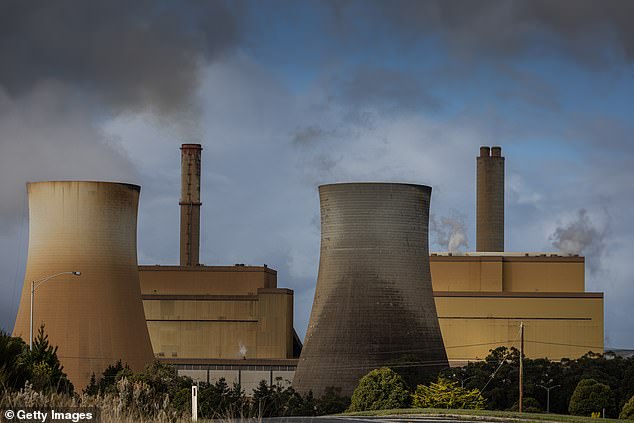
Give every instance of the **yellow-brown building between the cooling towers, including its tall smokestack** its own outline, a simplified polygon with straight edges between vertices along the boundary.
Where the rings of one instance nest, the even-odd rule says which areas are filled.
[[[301,342],[293,329],[293,291],[264,266],[199,263],[200,144],[181,147],[180,266],[139,266],[154,355],[194,380],[292,379]]]

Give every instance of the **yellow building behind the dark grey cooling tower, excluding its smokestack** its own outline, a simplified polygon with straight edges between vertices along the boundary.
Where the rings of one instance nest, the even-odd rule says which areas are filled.
[[[553,253],[433,253],[434,297],[452,366],[499,346],[529,358],[603,352],[603,294],[585,292],[584,258]]]

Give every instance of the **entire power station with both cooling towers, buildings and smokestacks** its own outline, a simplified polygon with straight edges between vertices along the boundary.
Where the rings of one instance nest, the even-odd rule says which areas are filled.
[[[278,288],[266,265],[200,264],[201,152],[199,144],[181,147],[174,266],[137,263],[140,187],[27,185],[29,255],[13,333],[28,338],[33,310],[77,388],[119,359],[139,370],[152,356],[194,380],[224,377],[247,392],[261,380],[293,379],[302,351],[293,291]],[[402,361],[397,350],[429,368],[481,360],[496,347],[517,346],[520,322],[530,358],[603,352],[603,294],[585,291],[584,258],[504,251],[504,163],[500,147],[480,149],[476,252],[469,253],[428,256],[429,197],[421,186],[320,187],[319,282],[300,390],[339,384],[349,393],[370,367]],[[31,283],[57,273],[59,280],[38,286],[30,307]],[[344,375],[346,368],[356,370]]]

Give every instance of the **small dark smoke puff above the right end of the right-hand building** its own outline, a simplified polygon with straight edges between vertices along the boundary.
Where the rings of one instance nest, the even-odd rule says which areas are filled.
[[[572,222],[560,225],[550,235],[553,247],[563,254],[579,254],[588,257],[588,268],[595,273],[601,269],[605,250],[606,229],[594,224],[588,212],[580,209]]]

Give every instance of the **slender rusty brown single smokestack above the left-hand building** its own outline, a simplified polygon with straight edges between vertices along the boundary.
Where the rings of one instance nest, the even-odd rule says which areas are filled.
[[[198,266],[200,256],[200,144],[181,146],[181,266]]]

